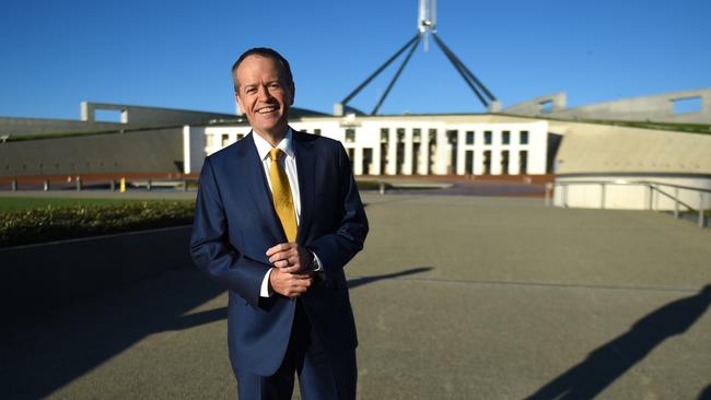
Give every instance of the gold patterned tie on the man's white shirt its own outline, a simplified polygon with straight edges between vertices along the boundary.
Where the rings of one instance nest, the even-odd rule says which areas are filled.
[[[275,210],[284,228],[289,242],[296,240],[296,213],[294,211],[294,201],[291,198],[291,186],[287,173],[279,165],[279,158],[284,154],[281,149],[271,149],[269,151],[269,179],[271,180],[271,197],[275,200]]]

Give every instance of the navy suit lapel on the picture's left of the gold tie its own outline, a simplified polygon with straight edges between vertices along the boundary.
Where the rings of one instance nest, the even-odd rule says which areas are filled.
[[[273,237],[273,243],[283,243],[287,242],[285,235],[275,211],[271,190],[267,187],[264,165],[261,160],[259,160],[257,146],[254,144],[252,134],[254,133],[249,133],[242,139],[244,145],[237,148],[237,160],[240,163],[237,172],[245,177],[245,189],[249,192],[255,203],[256,212],[265,216],[263,221],[265,221],[268,233]]]

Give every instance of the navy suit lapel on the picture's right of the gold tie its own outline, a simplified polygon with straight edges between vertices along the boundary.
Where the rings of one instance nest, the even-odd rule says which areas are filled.
[[[304,133],[293,130],[293,144],[296,152],[296,174],[299,175],[299,193],[301,197],[301,216],[296,240],[303,239],[313,217],[315,198],[316,156],[313,152],[313,141],[305,140]]]

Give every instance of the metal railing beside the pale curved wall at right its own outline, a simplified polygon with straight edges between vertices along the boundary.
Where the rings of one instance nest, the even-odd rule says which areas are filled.
[[[683,186],[683,185],[674,185],[674,184],[664,184],[664,183],[658,183],[658,181],[650,181],[650,180],[566,180],[566,181],[558,181],[555,184],[547,184],[546,185],[546,205],[550,207],[552,205],[552,196],[553,191],[557,190],[558,187],[561,188],[562,193],[561,193],[561,200],[562,200],[562,207],[568,208],[568,188],[570,186],[575,186],[575,185],[586,185],[586,186],[594,186],[594,185],[599,185],[601,187],[601,197],[599,197],[599,208],[602,210],[605,209],[606,207],[606,201],[607,201],[607,187],[608,186],[642,186],[645,187],[646,189],[646,196],[644,199],[644,204],[642,209],[645,210],[651,210],[651,211],[658,211],[658,204],[655,207],[655,203],[658,203],[658,196],[663,196],[665,198],[668,198],[674,202],[674,217],[679,219],[681,210],[680,208],[684,207],[686,210],[685,211],[690,211],[690,212],[696,212],[698,213],[698,224],[699,227],[703,228],[706,227],[706,209],[703,207],[703,201],[706,199],[707,193],[711,195],[711,189],[702,189],[702,188],[695,188],[690,186]],[[664,188],[664,190],[663,190]],[[673,189],[673,193],[668,192],[666,188]],[[699,207],[693,208],[683,201],[679,198],[679,190],[690,190],[698,192],[699,195]],[[658,193],[655,198],[654,193]],[[657,201],[655,201],[655,199]]]

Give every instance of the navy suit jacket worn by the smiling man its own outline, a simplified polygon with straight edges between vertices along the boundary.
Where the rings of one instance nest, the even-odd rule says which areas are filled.
[[[266,251],[288,240],[252,134],[206,158],[190,248],[198,268],[229,290],[232,366],[272,375],[289,343],[296,301],[259,297],[272,267]],[[293,144],[301,196],[296,243],[324,268],[324,278],[300,298],[329,357],[338,358],[358,344],[343,267],[363,248],[368,220],[343,146],[296,131]]]

